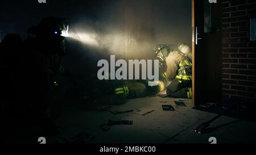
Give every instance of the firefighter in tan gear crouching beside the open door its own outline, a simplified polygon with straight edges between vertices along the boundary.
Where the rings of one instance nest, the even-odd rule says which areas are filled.
[[[159,44],[154,48],[155,56],[161,67],[166,67],[163,75],[167,82],[168,97],[192,98],[192,64],[190,48],[184,43],[179,44],[179,50],[173,49],[170,44]],[[190,54],[189,54],[190,56]]]

